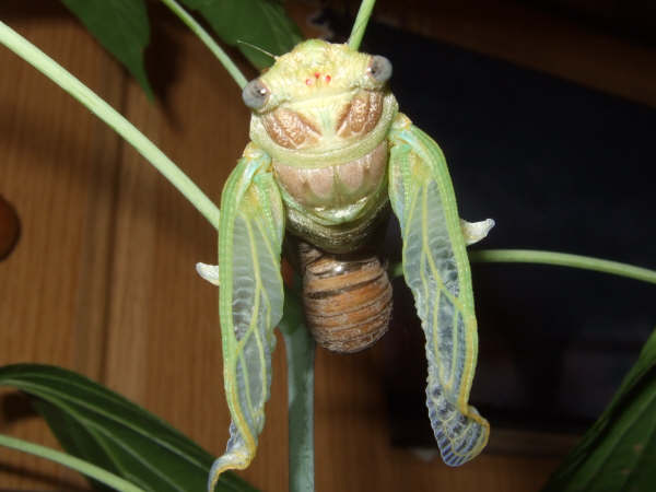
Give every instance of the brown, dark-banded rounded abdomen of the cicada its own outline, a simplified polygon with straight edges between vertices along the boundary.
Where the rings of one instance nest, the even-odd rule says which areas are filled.
[[[371,347],[389,326],[391,284],[372,250],[330,254],[300,243],[305,318],[315,340],[333,352]]]

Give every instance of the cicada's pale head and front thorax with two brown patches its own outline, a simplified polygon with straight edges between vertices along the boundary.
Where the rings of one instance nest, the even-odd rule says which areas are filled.
[[[390,77],[385,57],[320,39],[301,43],[244,87],[253,109],[250,137],[284,162],[285,151],[318,155],[363,139],[379,141],[397,110]]]

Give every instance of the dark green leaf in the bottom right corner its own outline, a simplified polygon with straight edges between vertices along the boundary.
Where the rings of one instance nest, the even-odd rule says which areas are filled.
[[[543,492],[653,490],[656,483],[656,331],[601,417]]]

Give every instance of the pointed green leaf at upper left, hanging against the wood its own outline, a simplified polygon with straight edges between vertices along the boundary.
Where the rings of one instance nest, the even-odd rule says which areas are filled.
[[[153,91],[143,66],[150,24],[143,0],[61,0],[82,24],[141,84],[148,96]]]

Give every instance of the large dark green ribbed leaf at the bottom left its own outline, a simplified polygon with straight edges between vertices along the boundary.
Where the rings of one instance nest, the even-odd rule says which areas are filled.
[[[0,367],[0,385],[37,398],[36,408],[63,448],[148,491],[204,490],[212,456],[147,410],[60,367]],[[232,473],[219,491],[253,492]]]

